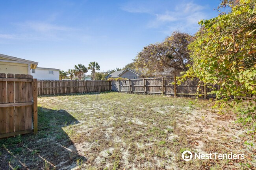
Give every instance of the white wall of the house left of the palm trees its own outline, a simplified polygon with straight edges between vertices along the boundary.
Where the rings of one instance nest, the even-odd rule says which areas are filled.
[[[59,80],[59,71],[58,70],[52,70],[53,74],[49,74],[48,69],[35,69],[35,73],[32,73],[31,69],[31,75],[33,75],[34,79],[38,80]]]

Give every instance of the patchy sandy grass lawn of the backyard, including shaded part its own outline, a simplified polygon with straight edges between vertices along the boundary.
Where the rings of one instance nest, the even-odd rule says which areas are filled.
[[[0,169],[255,169],[255,146],[213,102],[101,93],[38,98],[39,131],[0,140]],[[254,141],[255,142],[255,141]],[[241,160],[184,161],[184,150],[245,154]]]

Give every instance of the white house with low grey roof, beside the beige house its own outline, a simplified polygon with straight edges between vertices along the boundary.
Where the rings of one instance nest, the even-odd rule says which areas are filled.
[[[60,69],[36,67],[31,69],[31,75],[38,80],[59,80]]]

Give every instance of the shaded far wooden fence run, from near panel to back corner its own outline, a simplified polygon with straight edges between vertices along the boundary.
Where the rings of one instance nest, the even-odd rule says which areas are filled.
[[[110,91],[107,80],[38,80],[38,95]]]

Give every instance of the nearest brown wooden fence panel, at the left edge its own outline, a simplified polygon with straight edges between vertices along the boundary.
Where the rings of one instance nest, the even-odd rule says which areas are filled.
[[[0,73],[0,138],[31,132],[37,133],[37,79]]]

